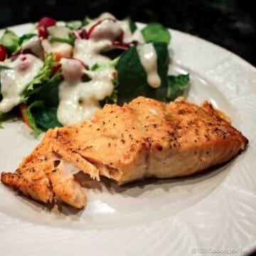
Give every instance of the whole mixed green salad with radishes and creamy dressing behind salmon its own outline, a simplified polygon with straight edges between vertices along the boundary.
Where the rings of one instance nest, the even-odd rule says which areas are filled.
[[[189,75],[169,75],[170,31],[111,14],[83,21],[43,17],[31,33],[0,38],[0,126],[22,115],[36,134],[90,119],[137,96],[169,102]]]

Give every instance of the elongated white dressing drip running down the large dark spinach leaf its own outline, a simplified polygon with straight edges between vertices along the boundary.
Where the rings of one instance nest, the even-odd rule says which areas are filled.
[[[146,71],[147,82],[153,88],[158,88],[161,85],[161,79],[157,72],[157,55],[154,46],[151,43],[146,43],[137,46],[139,60]]]

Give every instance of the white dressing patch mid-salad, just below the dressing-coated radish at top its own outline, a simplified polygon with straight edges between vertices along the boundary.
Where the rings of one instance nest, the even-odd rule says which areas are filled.
[[[101,64],[110,61],[110,58],[101,55],[100,52],[111,45],[112,42],[109,40],[76,39],[73,56],[91,68],[96,63]]]

